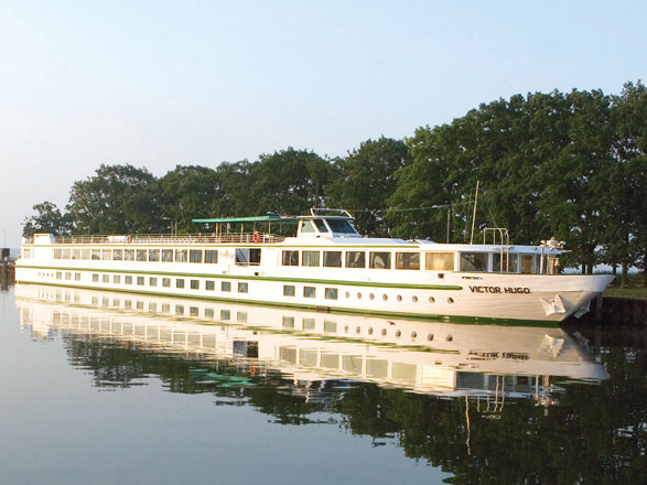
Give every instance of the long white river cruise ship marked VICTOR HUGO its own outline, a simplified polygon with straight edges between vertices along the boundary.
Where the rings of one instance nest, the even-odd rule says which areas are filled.
[[[296,220],[294,237],[224,230]],[[416,319],[559,322],[589,309],[613,277],[560,274],[562,245],[363,238],[347,215],[200,219],[211,235],[24,239],[24,283],[279,304]]]

